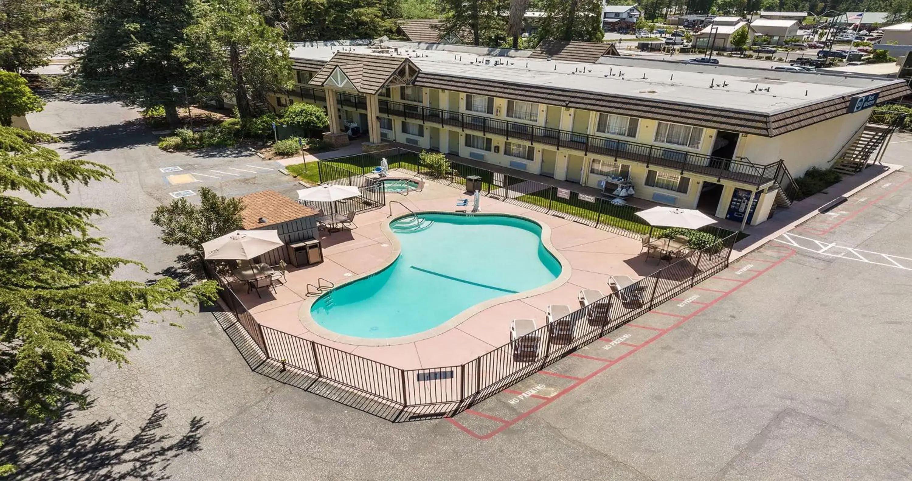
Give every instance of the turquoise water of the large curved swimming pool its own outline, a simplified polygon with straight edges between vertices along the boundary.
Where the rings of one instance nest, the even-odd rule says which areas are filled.
[[[396,261],[316,299],[310,312],[317,324],[359,338],[408,336],[561,272],[542,245],[541,226],[518,217],[420,214],[390,228],[402,246]]]

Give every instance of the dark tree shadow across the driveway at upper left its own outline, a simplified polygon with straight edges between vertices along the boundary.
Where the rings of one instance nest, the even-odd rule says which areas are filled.
[[[76,155],[138,145],[154,145],[158,141],[158,137],[150,133],[142,119],[99,127],[83,127],[60,133],[57,137],[69,143],[67,150]]]

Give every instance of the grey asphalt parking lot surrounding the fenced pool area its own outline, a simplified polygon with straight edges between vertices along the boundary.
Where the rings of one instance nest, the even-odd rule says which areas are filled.
[[[160,152],[137,118],[105,99],[29,116],[65,154],[116,170],[119,183],[67,202],[108,210],[109,254],[155,273],[181,254],[148,221],[171,198],[161,167],[267,162]],[[910,158],[908,140],[896,136],[886,161]],[[912,257],[910,179],[891,174],[793,233]],[[207,182],[231,195],[295,188],[265,171]],[[87,411],[47,436],[11,435],[0,455],[22,456],[21,479],[909,478],[912,272],[786,241],[452,420],[390,424],[255,374],[206,310],[184,329],[144,324],[152,340],[129,365],[93,365]]]

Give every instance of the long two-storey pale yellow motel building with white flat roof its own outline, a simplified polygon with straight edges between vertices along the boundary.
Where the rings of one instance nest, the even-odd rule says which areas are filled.
[[[910,93],[897,79],[609,57],[574,44],[567,56],[554,45],[295,44],[298,85],[271,101],[326,106],[327,141],[347,142],[345,122],[358,122],[365,150],[399,142],[606,196],[624,178],[635,197],[722,218],[747,196],[756,225],[791,203],[793,177],[833,165],[861,138],[874,103]]]

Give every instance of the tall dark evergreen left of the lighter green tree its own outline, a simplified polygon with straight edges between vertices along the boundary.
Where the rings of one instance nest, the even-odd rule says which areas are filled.
[[[86,88],[142,108],[164,106],[172,126],[191,78],[176,48],[192,23],[192,0],[88,0],[94,21],[77,61]],[[192,88],[190,89],[192,93]]]

